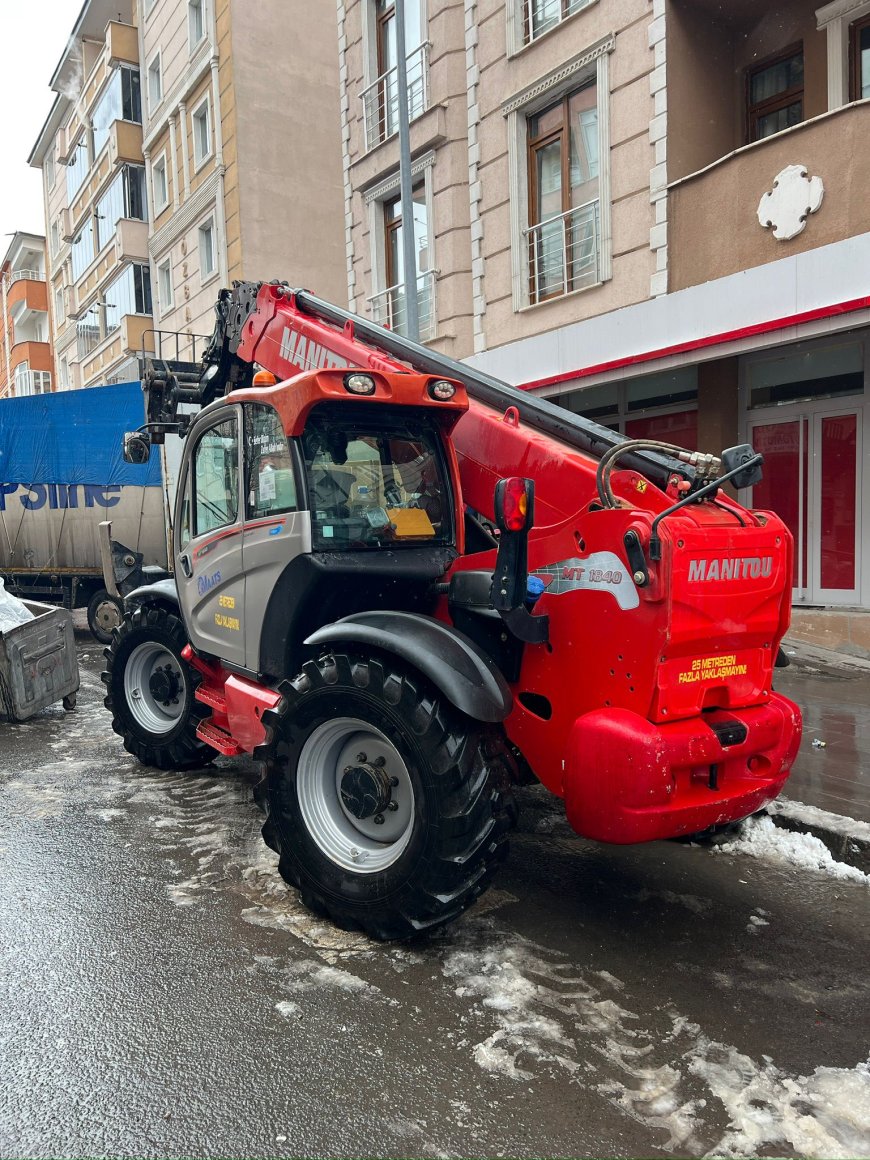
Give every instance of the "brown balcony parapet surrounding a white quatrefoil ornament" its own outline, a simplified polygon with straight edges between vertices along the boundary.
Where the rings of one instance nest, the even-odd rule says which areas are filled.
[[[668,190],[670,291],[870,231],[870,101],[844,106],[755,142]],[[825,200],[806,227],[777,241],[757,222],[762,194],[788,165],[825,183]]]

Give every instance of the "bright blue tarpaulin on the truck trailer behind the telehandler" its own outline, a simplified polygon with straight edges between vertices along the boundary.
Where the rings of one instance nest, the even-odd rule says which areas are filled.
[[[0,400],[0,484],[160,486],[160,456],[124,463],[124,432],[145,421],[138,383]]]

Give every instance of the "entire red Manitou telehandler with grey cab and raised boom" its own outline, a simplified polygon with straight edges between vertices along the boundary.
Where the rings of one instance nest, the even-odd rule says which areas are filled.
[[[217,316],[201,365],[148,361],[125,436],[184,436],[174,579],[106,652],[130,753],[254,754],[282,875],[378,938],[481,893],[516,782],[602,842],[776,797],[792,542],[722,491],[752,448],[626,440],[283,283]]]

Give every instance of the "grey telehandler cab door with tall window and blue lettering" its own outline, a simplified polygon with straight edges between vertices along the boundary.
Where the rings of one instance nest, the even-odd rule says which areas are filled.
[[[245,664],[240,408],[197,422],[180,490],[175,580],[200,652]]]

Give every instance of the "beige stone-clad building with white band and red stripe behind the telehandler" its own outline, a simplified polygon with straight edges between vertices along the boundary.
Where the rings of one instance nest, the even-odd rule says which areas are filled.
[[[405,9],[425,339],[630,436],[752,440],[796,604],[870,608],[870,0]],[[350,303],[403,329],[394,2],[338,10]]]

